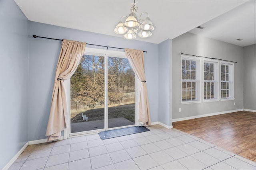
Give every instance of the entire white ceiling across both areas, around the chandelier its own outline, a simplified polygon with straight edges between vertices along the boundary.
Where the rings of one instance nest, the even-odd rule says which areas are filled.
[[[133,0],[14,1],[30,21],[118,37],[122,36],[113,30],[133,4]],[[136,6],[137,17],[148,12],[155,26],[152,37],[137,36],[140,41],[158,44],[191,30],[240,46],[255,44],[255,0],[136,0]],[[194,29],[199,25],[205,28]]]

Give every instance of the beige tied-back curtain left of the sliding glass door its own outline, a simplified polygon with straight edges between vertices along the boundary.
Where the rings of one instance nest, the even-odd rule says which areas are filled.
[[[84,54],[86,43],[63,40],[56,68],[52,104],[46,136],[48,141],[60,139],[62,130],[68,128],[68,103],[64,81],[71,78]]]

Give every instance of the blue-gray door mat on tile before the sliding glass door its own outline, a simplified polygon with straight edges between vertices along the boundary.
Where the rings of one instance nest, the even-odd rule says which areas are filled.
[[[141,133],[146,131],[150,131],[150,130],[144,126],[133,126],[133,127],[122,128],[122,129],[102,131],[99,133],[99,135],[100,135],[100,139],[109,139],[113,137],[120,137],[124,135],[131,135],[134,133]]]

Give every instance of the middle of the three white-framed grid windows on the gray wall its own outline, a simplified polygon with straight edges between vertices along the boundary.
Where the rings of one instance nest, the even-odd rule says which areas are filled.
[[[204,100],[218,99],[218,63],[204,61]]]

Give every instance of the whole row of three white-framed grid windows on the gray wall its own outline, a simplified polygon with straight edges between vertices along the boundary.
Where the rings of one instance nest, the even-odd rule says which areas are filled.
[[[181,103],[234,99],[234,63],[182,55]]]

